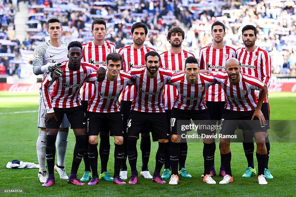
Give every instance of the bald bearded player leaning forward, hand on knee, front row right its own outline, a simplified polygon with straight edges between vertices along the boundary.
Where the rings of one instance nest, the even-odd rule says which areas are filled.
[[[251,120],[251,129],[254,132],[257,149],[256,157],[258,161],[258,182],[260,185],[267,184],[264,176],[264,166],[267,159],[265,146],[265,119],[261,112],[261,106],[266,96],[267,85],[258,78],[240,73],[239,61],[235,58],[229,58],[226,61],[225,72],[212,72],[211,76],[221,85],[226,94],[225,111],[222,115],[220,134],[233,135],[239,124],[246,128]],[[254,90],[262,90],[259,94],[258,105],[256,105],[256,96]],[[242,121],[229,121],[242,120]],[[250,130],[250,128],[247,128]],[[220,184],[227,184],[233,181],[231,174],[231,151],[230,138],[220,138],[221,161],[225,168],[226,175]]]

